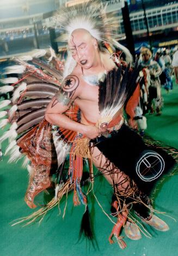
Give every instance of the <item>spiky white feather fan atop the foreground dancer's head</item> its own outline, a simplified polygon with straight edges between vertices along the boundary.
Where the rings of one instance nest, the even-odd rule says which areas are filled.
[[[62,29],[62,36],[58,38],[67,42],[71,33],[83,28],[90,32],[91,36],[97,40],[108,41],[114,37],[118,30],[119,22],[116,22],[116,16],[107,17],[106,7],[100,1],[84,2],[73,7],[62,7],[54,16],[56,25]]]

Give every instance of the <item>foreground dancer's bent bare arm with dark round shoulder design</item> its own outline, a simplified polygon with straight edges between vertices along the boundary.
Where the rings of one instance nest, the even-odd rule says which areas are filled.
[[[67,76],[62,83],[61,90],[57,92],[56,96],[48,104],[45,119],[63,129],[69,129],[87,135],[89,138],[95,138],[99,135],[96,126],[77,123],[64,114],[79,95],[79,90],[78,77],[76,75]]]

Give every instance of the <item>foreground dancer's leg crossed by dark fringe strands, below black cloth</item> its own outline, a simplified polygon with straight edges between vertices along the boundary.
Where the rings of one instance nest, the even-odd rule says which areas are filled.
[[[96,147],[91,149],[94,165],[113,186],[113,201],[119,202],[118,211],[128,211],[131,208],[144,219],[151,218],[151,203],[148,196],[139,191],[136,183],[124,172],[120,171]]]

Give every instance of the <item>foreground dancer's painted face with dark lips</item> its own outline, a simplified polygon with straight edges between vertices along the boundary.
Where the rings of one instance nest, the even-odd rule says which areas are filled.
[[[73,59],[81,67],[88,69],[95,66],[97,42],[87,30],[73,31],[68,44]]]

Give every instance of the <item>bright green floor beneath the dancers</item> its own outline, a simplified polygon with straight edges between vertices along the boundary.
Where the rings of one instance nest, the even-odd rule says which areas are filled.
[[[178,148],[178,86],[170,94],[164,95],[164,109],[160,117],[148,116],[147,134],[170,146]],[[2,135],[3,131],[1,131]],[[4,147],[3,147],[4,149]],[[39,225],[11,226],[17,218],[32,213],[24,202],[28,173],[21,168],[21,162],[7,164],[8,158],[0,162],[1,216],[0,255],[2,256],[57,256],[57,255],[132,255],[132,256],[176,256],[178,255],[178,225],[162,216],[170,226],[167,232],[159,232],[146,226],[152,238],[142,240],[125,238],[127,248],[121,250],[117,243],[110,245],[108,236],[113,224],[103,214],[99,205],[89,198],[89,208],[93,214],[95,227],[95,248],[85,239],[78,242],[79,225],[83,206],[73,207],[72,194],[69,195],[65,218],[59,216],[58,208],[48,213]],[[95,191],[102,207],[109,213],[112,189],[102,177],[95,182]],[[38,198],[42,203],[42,198]],[[170,177],[161,187],[156,200],[156,209],[167,212],[178,219],[178,175]],[[65,202],[61,205],[63,210]],[[124,232],[122,232],[124,235]]]

